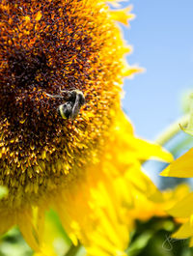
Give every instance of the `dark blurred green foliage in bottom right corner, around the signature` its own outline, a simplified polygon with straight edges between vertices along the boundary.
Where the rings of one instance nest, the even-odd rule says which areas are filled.
[[[148,222],[136,223],[127,249],[128,256],[191,256],[193,248],[188,240],[174,240],[172,233],[179,227],[172,217],[153,217]]]

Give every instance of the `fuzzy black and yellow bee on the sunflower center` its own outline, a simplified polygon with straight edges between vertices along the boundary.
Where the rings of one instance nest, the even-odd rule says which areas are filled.
[[[79,114],[81,106],[84,105],[85,103],[85,97],[83,93],[79,90],[61,91],[61,92],[65,93],[68,98],[65,103],[60,104],[58,106],[58,114],[63,119],[74,120]],[[46,95],[51,98],[60,98],[64,100],[66,99],[65,96],[61,96],[61,95],[55,95],[55,96],[52,96],[49,94],[46,94]]]

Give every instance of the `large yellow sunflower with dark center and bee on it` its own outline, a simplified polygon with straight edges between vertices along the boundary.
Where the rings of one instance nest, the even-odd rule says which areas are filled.
[[[124,255],[129,211],[156,188],[141,160],[171,156],[134,137],[121,108],[130,47],[101,0],[2,0],[0,233],[17,224],[43,252],[53,208],[89,255]],[[48,255],[48,252],[45,253]]]

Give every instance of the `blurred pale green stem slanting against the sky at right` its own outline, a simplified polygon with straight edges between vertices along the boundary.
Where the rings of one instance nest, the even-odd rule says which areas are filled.
[[[189,121],[189,114],[182,116],[175,123],[173,123],[169,128],[166,128],[160,135],[157,136],[155,142],[159,145],[166,144],[169,140],[175,137],[179,131],[180,127],[186,127]],[[180,126],[179,126],[180,125]]]

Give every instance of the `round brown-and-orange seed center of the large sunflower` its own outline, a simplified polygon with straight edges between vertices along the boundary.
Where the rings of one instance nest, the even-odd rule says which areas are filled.
[[[14,0],[0,8],[1,184],[13,194],[69,184],[98,160],[120,108],[120,35],[97,1]],[[81,109],[80,95],[65,105],[64,92],[73,90],[85,98]],[[59,106],[71,118],[61,118]]]

